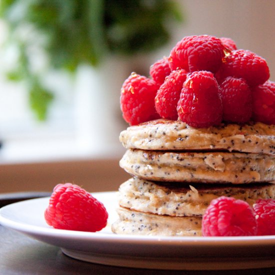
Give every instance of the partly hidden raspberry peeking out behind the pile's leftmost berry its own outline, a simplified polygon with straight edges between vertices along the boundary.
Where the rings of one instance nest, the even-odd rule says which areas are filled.
[[[171,72],[168,58],[164,56],[150,66],[150,76],[160,86]]]

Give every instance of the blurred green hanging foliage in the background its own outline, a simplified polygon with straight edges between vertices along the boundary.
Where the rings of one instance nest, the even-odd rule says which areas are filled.
[[[6,45],[18,51],[8,78],[25,81],[39,119],[53,94],[32,68],[33,44],[46,54],[48,69],[75,73],[81,63],[98,65],[106,53],[154,50],[169,39],[168,20],[182,20],[172,0],[0,0],[0,17],[8,25]],[[24,28],[31,35],[20,35]]]

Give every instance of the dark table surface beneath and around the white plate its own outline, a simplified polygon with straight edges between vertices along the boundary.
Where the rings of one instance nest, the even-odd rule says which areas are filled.
[[[33,194],[32,194],[33,195]],[[36,194],[35,194],[36,195]],[[1,196],[0,196],[1,198]],[[20,199],[28,196],[20,195]],[[1,201],[1,206],[12,199]],[[14,201],[19,198],[14,197]],[[220,270],[154,270],[108,266],[70,258],[59,247],[32,239],[0,225],[0,274],[220,274]],[[275,274],[275,267],[262,269],[223,270],[222,274]]]

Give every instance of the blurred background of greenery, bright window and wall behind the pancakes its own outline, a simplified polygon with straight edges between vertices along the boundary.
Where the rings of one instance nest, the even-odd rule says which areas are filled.
[[[232,38],[275,80],[274,0],[1,0],[0,192],[115,190],[120,87],[183,36]]]

